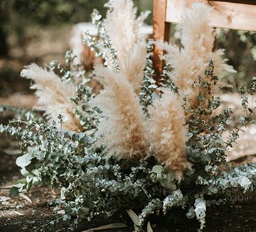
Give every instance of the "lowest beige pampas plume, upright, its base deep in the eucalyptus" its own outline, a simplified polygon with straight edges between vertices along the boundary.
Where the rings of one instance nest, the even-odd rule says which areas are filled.
[[[191,167],[186,159],[186,127],[182,102],[170,90],[163,90],[161,99],[149,107],[149,139],[156,160],[174,171],[181,180],[182,172]]]

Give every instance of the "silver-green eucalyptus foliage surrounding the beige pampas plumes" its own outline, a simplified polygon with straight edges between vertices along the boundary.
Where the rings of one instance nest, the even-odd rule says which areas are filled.
[[[101,30],[101,17],[96,11],[94,16],[95,25]],[[95,40],[92,42],[95,43]],[[107,48],[111,48],[111,43],[107,44]],[[158,88],[152,78],[154,70],[150,60],[151,48],[152,44],[149,42],[149,55],[140,94],[145,113],[146,107],[157,96],[155,91]],[[110,49],[110,53],[116,64],[114,50]],[[251,90],[241,90],[245,114],[241,116],[241,127],[231,131],[227,141],[223,138],[223,131],[226,130],[232,109],[225,109],[221,114],[211,116],[213,110],[220,106],[218,97],[210,99],[206,109],[198,106],[193,111],[187,104],[189,99],[184,99],[183,108],[191,112],[191,120],[188,121],[187,157],[193,163],[193,168],[178,182],[174,172],[157,165],[154,158],[142,159],[139,163],[127,160],[115,162],[106,160],[102,149],[95,149],[95,131],[100,111],[88,105],[93,94],[86,84],[92,75],[82,70],[80,65],[73,67],[73,60],[73,54],[66,53],[67,66],[73,70],[75,68],[75,71],[64,69],[58,62],[51,62],[50,66],[58,69],[65,80],[75,82],[76,78],[82,78],[82,82],[76,87],[77,96],[72,101],[77,104],[76,114],[80,117],[85,132],[59,129],[63,123],[62,116],[49,122],[45,116],[38,116],[33,111],[0,107],[0,113],[13,111],[17,116],[8,125],[0,125],[0,133],[10,133],[21,139],[22,155],[17,158],[16,164],[21,167],[21,174],[26,178],[23,182],[16,183],[11,193],[18,194],[41,183],[59,189],[60,197],[53,199],[52,204],[55,205],[55,211],[65,209],[65,214],[51,223],[60,219],[73,219],[70,225],[70,229],[73,229],[80,219],[90,220],[98,214],[112,216],[114,213],[133,209],[140,212],[140,225],[135,226],[139,231],[149,214],[169,215],[172,214],[172,209],[181,207],[187,211],[188,219],[198,219],[202,230],[207,206],[225,203],[225,198],[235,191],[255,190],[255,165],[242,165],[226,172],[220,167],[225,165],[225,151],[238,138],[241,127],[255,123],[251,118],[255,108],[247,104],[247,97],[255,92],[256,79],[252,79]],[[178,94],[178,89],[168,77],[168,68],[165,68],[165,81],[161,82],[161,86]],[[203,83],[203,87],[210,91],[212,85],[218,82],[213,62],[209,61],[205,74],[209,82]],[[198,77],[198,83],[200,82],[201,77]],[[198,99],[205,101],[201,96]],[[81,109],[81,103],[85,110]]]

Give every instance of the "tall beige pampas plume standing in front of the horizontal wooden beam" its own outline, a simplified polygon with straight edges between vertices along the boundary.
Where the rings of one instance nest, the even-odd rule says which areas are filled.
[[[166,50],[164,60],[174,68],[173,78],[181,96],[191,99],[192,109],[198,105],[197,96],[202,92],[202,87],[193,89],[191,86],[199,75],[206,78],[204,73],[210,60],[213,60],[217,76],[223,72],[235,72],[233,67],[225,63],[227,60],[222,58],[223,50],[213,52],[214,30],[210,26],[211,10],[205,4],[193,4],[191,9],[186,9],[181,20],[183,48],[179,49],[166,43],[159,44]],[[218,87],[213,87],[211,94],[206,94],[206,102],[217,90]]]

